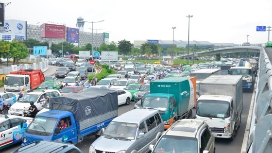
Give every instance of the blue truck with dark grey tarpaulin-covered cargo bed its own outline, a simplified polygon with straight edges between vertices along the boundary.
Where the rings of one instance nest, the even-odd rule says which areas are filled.
[[[26,129],[22,146],[42,140],[77,144],[85,136],[97,138],[117,116],[115,90],[97,89],[54,97],[50,99],[50,111],[38,114]]]

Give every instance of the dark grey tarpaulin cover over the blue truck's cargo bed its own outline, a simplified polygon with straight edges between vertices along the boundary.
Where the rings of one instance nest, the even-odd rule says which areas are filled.
[[[73,113],[75,120],[92,118],[118,109],[115,90],[97,89],[69,94],[50,99],[50,110],[64,110]]]

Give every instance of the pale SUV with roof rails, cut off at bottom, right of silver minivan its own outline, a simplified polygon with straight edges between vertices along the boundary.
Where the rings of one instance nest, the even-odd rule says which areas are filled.
[[[215,140],[205,121],[182,119],[177,120],[149,149],[152,153],[215,153]]]

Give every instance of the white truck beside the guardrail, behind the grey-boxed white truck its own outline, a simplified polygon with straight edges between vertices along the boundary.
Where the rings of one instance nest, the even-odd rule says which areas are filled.
[[[236,67],[230,68],[230,75],[243,76],[243,89],[254,90],[255,85],[255,68],[247,61],[240,61]]]

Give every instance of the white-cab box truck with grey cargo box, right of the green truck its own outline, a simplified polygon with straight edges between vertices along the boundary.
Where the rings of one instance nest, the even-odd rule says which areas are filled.
[[[215,137],[234,139],[241,124],[241,75],[212,75],[200,83],[196,119],[208,123]]]

